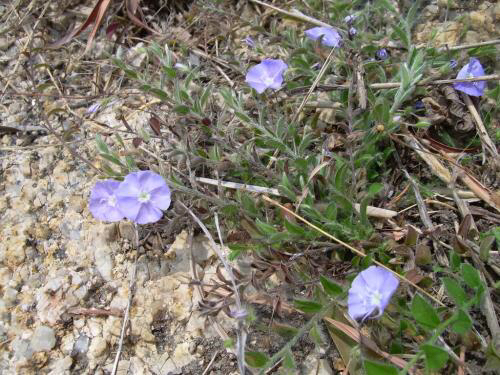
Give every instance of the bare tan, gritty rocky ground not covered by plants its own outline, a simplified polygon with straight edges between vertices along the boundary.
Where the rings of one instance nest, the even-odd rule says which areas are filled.
[[[0,5],[0,16],[12,21],[9,7],[17,3]],[[477,2],[473,11],[456,3],[461,2],[430,2],[424,11],[428,22],[417,26],[416,42],[427,42],[435,30],[438,44],[498,38],[499,3]],[[42,17],[37,23],[43,4],[32,4],[37,11],[17,8],[17,17],[26,12],[21,27],[0,34],[3,92],[32,91],[33,84],[49,81],[46,74],[25,69],[35,54],[57,60],[57,51],[36,50],[44,45],[49,34],[44,28],[53,21]],[[49,7],[44,17],[52,13],[57,12]],[[89,65],[85,69],[82,74],[89,73]],[[54,74],[63,85],[77,80],[65,75],[63,66]],[[44,132],[24,133],[41,130],[41,103],[73,106],[70,100],[35,99],[20,94],[3,95],[1,101],[0,125],[22,133],[0,128],[0,373],[107,374],[130,292],[133,227],[96,221],[87,209],[95,172],[75,160],[60,139]],[[80,116],[88,107],[82,102],[72,108]],[[121,104],[94,120],[112,126],[112,113]],[[64,130],[71,129],[71,115],[61,116]],[[146,116],[136,114],[131,125],[146,121]],[[67,139],[92,159],[94,146],[85,134],[76,132]],[[199,296],[189,284],[191,251],[205,280],[215,274],[217,260],[208,242],[195,238],[191,249],[186,231],[164,238],[154,230],[141,234],[148,239],[139,248],[137,289],[118,373],[201,374],[212,360],[207,374],[237,373],[236,359],[224,348],[221,335],[221,330],[231,331],[232,322],[222,313],[212,321],[200,315]],[[251,337],[250,345],[258,339]],[[305,374],[334,373],[332,350],[318,353],[308,342],[301,345]]]

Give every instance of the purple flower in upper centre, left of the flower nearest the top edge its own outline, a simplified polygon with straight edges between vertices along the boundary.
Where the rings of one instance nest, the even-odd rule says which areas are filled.
[[[263,60],[248,69],[246,83],[262,94],[266,89],[278,90],[283,84],[283,73],[288,69],[283,60]]]

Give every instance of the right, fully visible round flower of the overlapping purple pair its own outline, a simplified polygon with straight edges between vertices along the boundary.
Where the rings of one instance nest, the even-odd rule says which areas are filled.
[[[151,171],[129,173],[116,191],[118,206],[137,224],[154,223],[170,206],[170,189],[160,175]]]

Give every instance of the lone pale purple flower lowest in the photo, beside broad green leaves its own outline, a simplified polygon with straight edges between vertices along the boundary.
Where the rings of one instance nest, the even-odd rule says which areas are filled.
[[[378,318],[384,312],[396,291],[399,280],[382,267],[370,266],[360,272],[352,282],[347,298],[349,316],[365,320],[373,313]]]

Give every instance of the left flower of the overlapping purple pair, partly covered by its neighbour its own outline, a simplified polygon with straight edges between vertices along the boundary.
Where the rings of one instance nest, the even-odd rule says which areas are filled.
[[[117,205],[116,190],[120,181],[97,181],[89,199],[89,210],[92,215],[103,221],[119,221],[124,215]]]

